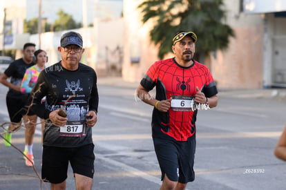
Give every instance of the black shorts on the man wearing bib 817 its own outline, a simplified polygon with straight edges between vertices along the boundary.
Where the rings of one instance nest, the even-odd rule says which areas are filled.
[[[41,178],[50,183],[61,183],[68,178],[68,162],[73,173],[93,178],[95,172],[94,144],[77,148],[43,146]]]

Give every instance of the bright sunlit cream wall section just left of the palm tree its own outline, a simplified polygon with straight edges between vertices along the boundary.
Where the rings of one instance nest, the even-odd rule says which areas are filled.
[[[146,70],[158,60],[158,47],[151,44],[151,23],[142,24],[137,6],[142,1],[124,0],[124,64],[122,77],[129,82],[140,82]],[[131,62],[131,58],[140,62]]]

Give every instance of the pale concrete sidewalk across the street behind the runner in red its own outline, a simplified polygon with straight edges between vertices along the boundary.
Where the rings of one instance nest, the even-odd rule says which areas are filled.
[[[128,87],[136,89],[138,82],[126,82],[122,77],[98,77],[98,85]],[[220,96],[238,98],[274,98],[286,101],[286,88],[261,88],[261,89],[218,89]]]

